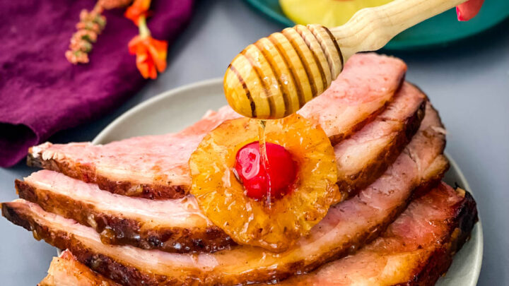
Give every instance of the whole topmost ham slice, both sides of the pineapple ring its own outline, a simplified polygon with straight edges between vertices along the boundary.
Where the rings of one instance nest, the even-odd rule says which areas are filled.
[[[333,143],[373,119],[392,100],[406,71],[403,61],[376,54],[352,56],[341,75],[301,114],[316,120]],[[239,117],[229,107],[209,112],[181,131],[106,145],[44,143],[30,148],[28,165],[62,172],[101,189],[144,198],[181,198],[189,192],[187,161],[206,133]]]

